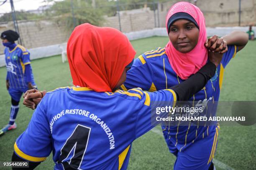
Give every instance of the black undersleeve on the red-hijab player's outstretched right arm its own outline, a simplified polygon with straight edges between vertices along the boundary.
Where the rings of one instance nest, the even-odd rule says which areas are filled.
[[[212,62],[207,62],[205,66],[187,80],[171,87],[177,94],[177,100],[189,100],[192,95],[202,90],[207,81],[215,75],[215,71],[216,66]]]

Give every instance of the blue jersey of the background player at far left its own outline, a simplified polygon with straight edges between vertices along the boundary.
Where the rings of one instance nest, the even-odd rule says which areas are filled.
[[[5,48],[5,64],[7,69],[7,80],[9,80],[10,88],[23,89],[28,85],[26,84],[26,76],[24,75],[25,65],[30,64],[30,53],[28,50],[21,46],[16,45],[13,50]],[[36,85],[31,70],[31,83]]]

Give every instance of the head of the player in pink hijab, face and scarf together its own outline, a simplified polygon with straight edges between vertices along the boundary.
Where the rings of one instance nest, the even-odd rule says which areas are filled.
[[[186,28],[181,30],[179,26]],[[195,5],[177,3],[166,16],[166,28],[170,37],[165,47],[169,62],[179,77],[187,79],[207,62],[204,15]]]

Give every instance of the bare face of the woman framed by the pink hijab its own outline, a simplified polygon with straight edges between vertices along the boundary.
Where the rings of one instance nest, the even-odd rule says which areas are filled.
[[[197,45],[199,29],[194,23],[180,19],[171,25],[169,39],[176,50],[187,53]]]

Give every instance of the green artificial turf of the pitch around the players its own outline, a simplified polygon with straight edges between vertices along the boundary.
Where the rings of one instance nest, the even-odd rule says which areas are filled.
[[[168,37],[149,37],[133,40],[132,44],[141,53],[164,47]],[[225,68],[223,86],[220,94],[222,101],[256,100],[256,41],[238,52]],[[56,87],[71,86],[72,79],[68,63],[61,62],[61,56],[53,56],[32,61],[33,74],[39,90],[54,90]],[[5,67],[0,68],[0,126],[8,123],[10,96],[5,87]],[[16,123],[18,128],[0,137],[0,161],[10,161],[16,138],[26,129],[33,111],[22,105]],[[156,133],[157,132],[157,133]],[[256,126],[221,126],[218,149],[215,159],[236,170],[252,170],[256,167]],[[175,156],[169,153],[158,126],[154,132],[137,139],[132,145],[129,170],[170,170],[173,169]],[[218,167],[219,165],[219,167]],[[216,164],[218,169],[225,166]],[[52,170],[52,155],[38,166],[39,170]],[[1,168],[0,168],[1,169]]]

